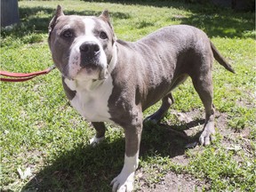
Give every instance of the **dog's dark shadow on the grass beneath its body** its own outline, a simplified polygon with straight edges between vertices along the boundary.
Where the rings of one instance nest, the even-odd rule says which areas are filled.
[[[172,126],[144,124],[140,144],[143,161],[156,154],[171,158],[183,155],[186,145],[198,140],[199,134],[187,136],[184,132],[195,124],[204,121]],[[81,143],[60,154],[49,165],[45,163],[21,191],[111,191],[109,183],[124,164],[124,137],[115,140],[107,137],[95,148]]]

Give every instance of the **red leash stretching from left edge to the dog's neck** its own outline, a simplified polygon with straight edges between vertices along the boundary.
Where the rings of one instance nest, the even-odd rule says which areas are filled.
[[[32,73],[12,73],[12,72],[8,72],[8,71],[0,71],[0,76],[12,77],[12,78],[0,77],[0,81],[4,81],[4,82],[24,82],[24,81],[28,81],[29,79],[32,79],[36,76],[41,76],[41,75],[48,74],[54,68],[56,68],[55,65],[53,65],[50,68],[46,68],[43,71],[36,71],[36,72],[32,72]]]

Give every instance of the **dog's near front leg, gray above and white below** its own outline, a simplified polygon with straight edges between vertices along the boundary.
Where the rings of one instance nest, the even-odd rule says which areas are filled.
[[[130,192],[133,189],[134,173],[139,165],[140,137],[142,131],[142,119],[140,124],[124,128],[125,154],[124,167],[120,174],[112,180],[113,192]]]

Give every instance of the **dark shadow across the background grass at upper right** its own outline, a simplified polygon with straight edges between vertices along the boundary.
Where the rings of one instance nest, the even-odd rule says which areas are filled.
[[[93,0],[93,2],[103,2],[103,0]],[[255,12],[237,12],[229,8],[207,3],[207,1],[205,1],[205,3],[201,1],[202,3],[200,4],[189,4],[188,0],[108,0],[107,2],[115,4],[169,7],[185,10],[192,12],[192,14],[189,17],[178,15],[177,17],[170,18],[170,20],[180,20],[181,24],[192,25],[196,28],[200,28],[204,30],[209,37],[220,36],[230,38],[255,38],[255,32],[253,32],[255,31]]]

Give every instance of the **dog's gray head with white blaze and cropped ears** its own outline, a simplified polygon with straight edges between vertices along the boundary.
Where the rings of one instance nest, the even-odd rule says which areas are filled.
[[[116,37],[108,11],[100,17],[65,15],[58,5],[49,25],[52,60],[68,79],[104,79],[115,57]]]

